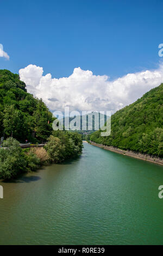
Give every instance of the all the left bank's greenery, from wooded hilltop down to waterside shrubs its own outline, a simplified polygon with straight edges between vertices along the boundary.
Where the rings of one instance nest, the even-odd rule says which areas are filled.
[[[0,179],[12,179],[82,152],[82,137],[76,132],[53,131],[54,119],[42,100],[27,93],[17,74],[0,70],[0,136],[7,138],[0,149]],[[26,139],[48,143],[45,148],[23,150],[19,144]]]

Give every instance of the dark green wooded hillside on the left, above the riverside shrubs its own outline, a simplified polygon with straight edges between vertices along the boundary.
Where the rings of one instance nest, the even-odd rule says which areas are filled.
[[[52,113],[27,93],[17,74],[0,70],[0,136],[20,142],[43,142],[52,133]]]

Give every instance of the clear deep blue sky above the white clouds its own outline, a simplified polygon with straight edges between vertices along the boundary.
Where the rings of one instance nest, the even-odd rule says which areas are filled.
[[[0,69],[35,64],[59,78],[80,66],[115,79],[160,60],[163,1],[7,0],[0,9],[0,43],[10,56]]]

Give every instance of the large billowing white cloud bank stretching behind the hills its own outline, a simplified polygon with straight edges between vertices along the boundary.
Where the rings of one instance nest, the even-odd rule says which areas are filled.
[[[90,70],[74,68],[69,77],[43,76],[43,68],[28,65],[19,71],[27,90],[42,98],[52,111],[111,111],[133,103],[148,90],[163,82],[163,64],[158,69],[127,74],[114,81],[106,75],[96,76]]]

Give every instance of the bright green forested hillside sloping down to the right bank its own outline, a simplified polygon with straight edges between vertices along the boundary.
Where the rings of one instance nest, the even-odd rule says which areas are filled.
[[[120,149],[163,156],[163,84],[111,116],[111,135],[90,140]]]

